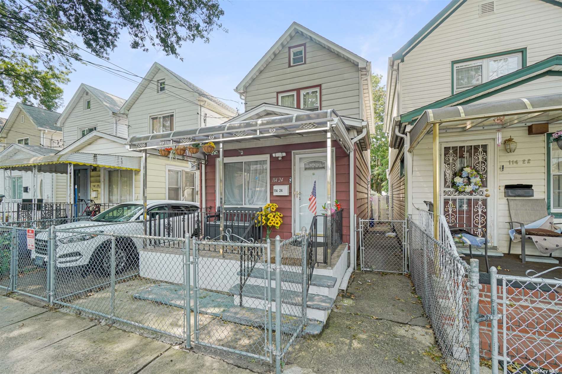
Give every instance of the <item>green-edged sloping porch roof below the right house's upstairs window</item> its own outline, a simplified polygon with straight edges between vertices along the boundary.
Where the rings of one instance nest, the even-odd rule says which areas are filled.
[[[545,75],[562,76],[562,54],[555,54],[552,57],[533,63],[533,65],[529,65],[523,69],[510,72],[509,74],[502,75],[486,83],[479,84],[473,88],[404,113],[400,116],[400,122],[410,122],[428,109],[452,106],[457,103],[469,104],[498,93],[500,90],[513,88],[514,86],[527,83],[529,80],[535,80]]]

